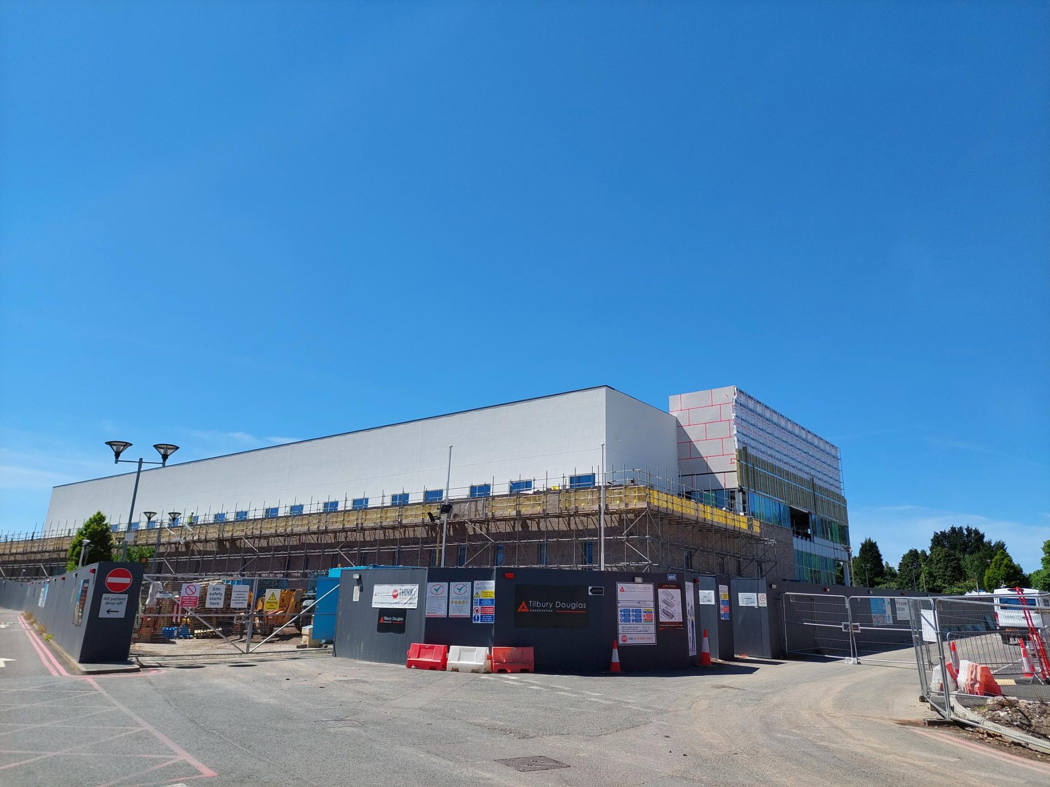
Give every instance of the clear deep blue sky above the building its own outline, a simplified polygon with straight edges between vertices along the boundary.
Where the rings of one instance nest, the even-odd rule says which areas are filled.
[[[176,460],[737,384],[855,549],[1050,537],[1050,5],[0,5],[0,530]]]

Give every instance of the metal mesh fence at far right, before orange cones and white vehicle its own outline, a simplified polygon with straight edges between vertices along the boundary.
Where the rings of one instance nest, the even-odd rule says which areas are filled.
[[[1029,592],[1023,604],[991,594],[907,603],[922,695],[946,719],[983,724],[978,711],[995,693],[1050,702],[1050,665],[1038,657],[1050,641],[1050,594]],[[961,674],[982,667],[982,686]]]

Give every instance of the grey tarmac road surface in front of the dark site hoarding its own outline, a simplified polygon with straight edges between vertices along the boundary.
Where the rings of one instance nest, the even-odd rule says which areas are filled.
[[[4,657],[4,787],[1050,784],[1050,759],[923,727],[902,667],[482,676],[311,652],[77,676],[0,610]],[[534,757],[568,767],[498,762]]]

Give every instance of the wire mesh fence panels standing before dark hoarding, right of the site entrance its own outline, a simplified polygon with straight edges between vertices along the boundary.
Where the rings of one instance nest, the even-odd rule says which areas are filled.
[[[783,594],[784,650],[853,662],[911,666],[911,624],[901,596]]]

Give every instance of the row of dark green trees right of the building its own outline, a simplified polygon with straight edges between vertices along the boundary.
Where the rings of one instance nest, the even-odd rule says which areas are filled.
[[[953,595],[1016,587],[1050,591],[1050,539],[1043,543],[1042,567],[1026,574],[1004,541],[969,526],[939,530],[929,549],[909,549],[896,567],[874,538],[865,538],[853,559],[853,583]]]

